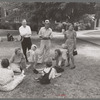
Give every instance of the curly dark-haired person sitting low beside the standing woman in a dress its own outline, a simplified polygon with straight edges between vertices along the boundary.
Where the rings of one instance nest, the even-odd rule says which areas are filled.
[[[52,58],[52,60],[56,62],[54,68],[56,69],[57,73],[63,72],[63,67],[65,66],[65,59],[62,57],[62,52],[60,51],[60,49],[55,50],[55,57]]]

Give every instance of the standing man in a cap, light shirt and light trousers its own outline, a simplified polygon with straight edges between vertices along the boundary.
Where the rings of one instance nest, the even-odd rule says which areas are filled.
[[[50,47],[52,38],[52,29],[50,28],[49,20],[45,20],[45,26],[41,27],[39,31],[40,43],[40,54],[38,56],[38,63],[43,63],[50,57]]]

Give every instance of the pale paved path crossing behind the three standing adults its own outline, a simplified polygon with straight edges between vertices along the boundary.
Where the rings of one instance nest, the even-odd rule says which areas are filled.
[[[0,30],[0,36],[2,38],[6,38],[7,32],[9,32],[9,30]],[[18,31],[12,30],[11,33],[14,34],[15,38],[18,37],[18,35],[17,35]],[[62,37],[64,37],[64,35],[61,32],[53,32],[53,37],[54,38],[62,38]],[[38,35],[36,34],[36,32],[33,32],[32,38],[34,38],[34,39],[39,38]],[[96,45],[100,45],[100,30],[98,29],[98,30],[77,31],[77,38],[87,41],[87,42],[91,42]]]

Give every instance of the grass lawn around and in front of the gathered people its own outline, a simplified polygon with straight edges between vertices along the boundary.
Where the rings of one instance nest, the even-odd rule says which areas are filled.
[[[33,36],[32,43],[39,47],[40,40]],[[61,48],[62,43],[62,37],[53,38],[52,56],[54,49]],[[29,68],[25,80],[11,92],[0,92],[0,98],[100,98],[100,47],[79,39],[77,43],[74,70],[64,68],[61,77],[49,85],[41,85],[34,80],[38,75]],[[0,42],[0,58],[10,58],[15,47],[20,46],[20,42]]]

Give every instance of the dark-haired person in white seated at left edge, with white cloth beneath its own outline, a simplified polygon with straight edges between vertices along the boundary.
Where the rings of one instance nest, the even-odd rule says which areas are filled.
[[[9,68],[9,60],[2,59],[0,68],[0,91],[11,91],[24,79],[24,71],[14,76],[13,70]]]

